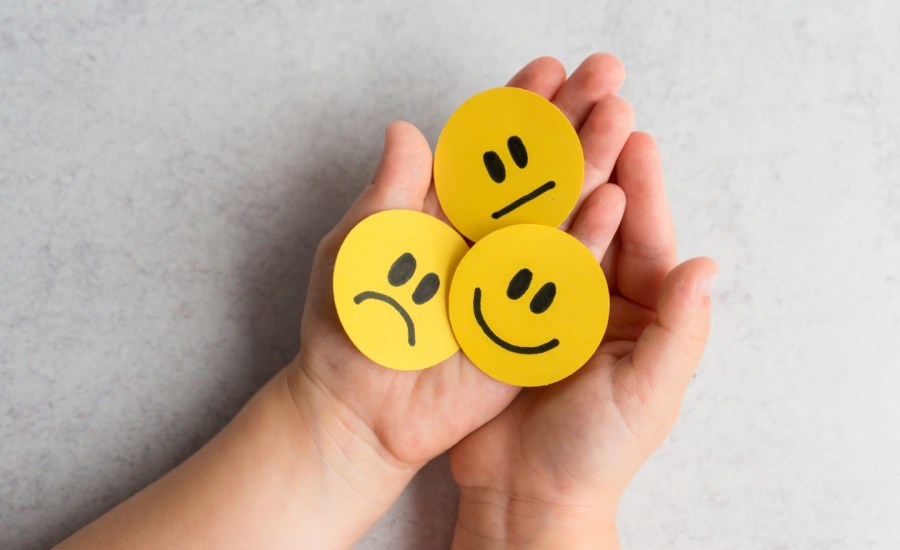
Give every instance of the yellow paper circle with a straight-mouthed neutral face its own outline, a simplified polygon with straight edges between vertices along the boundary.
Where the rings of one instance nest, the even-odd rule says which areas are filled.
[[[509,225],[559,226],[584,180],[575,129],[552,103],[519,88],[469,98],[434,153],[434,186],[447,218],[477,241]]]

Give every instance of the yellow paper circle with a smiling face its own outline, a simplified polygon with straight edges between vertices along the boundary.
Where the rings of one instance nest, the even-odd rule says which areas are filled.
[[[450,324],[478,368],[507,384],[544,386],[597,350],[609,288],[591,252],[543,225],[514,225],[481,239],[450,286]]]

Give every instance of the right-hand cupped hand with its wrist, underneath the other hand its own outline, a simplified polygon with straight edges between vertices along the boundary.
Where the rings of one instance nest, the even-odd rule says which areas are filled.
[[[556,97],[568,93],[572,80]],[[573,121],[576,128],[579,121]],[[591,131],[581,128],[586,162],[595,164],[598,181],[605,181],[612,165],[598,162],[587,146]],[[612,293],[608,331],[581,370],[551,386],[522,391],[451,451],[461,487],[458,547],[501,541],[615,546],[619,497],[674,424],[706,344],[717,268],[706,258],[676,267],[662,169],[650,136],[628,138],[614,179],[615,185],[593,191],[571,228],[603,257]],[[605,210],[592,211],[598,203],[605,203]],[[609,223],[602,216],[612,216],[615,204],[624,204],[624,217],[606,251],[607,241],[598,243],[590,233]]]

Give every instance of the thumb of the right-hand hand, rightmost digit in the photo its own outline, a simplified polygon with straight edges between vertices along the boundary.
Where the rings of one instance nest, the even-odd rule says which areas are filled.
[[[709,258],[694,258],[666,277],[656,320],[634,346],[631,366],[654,399],[680,402],[697,369],[710,326],[710,292],[718,273]]]

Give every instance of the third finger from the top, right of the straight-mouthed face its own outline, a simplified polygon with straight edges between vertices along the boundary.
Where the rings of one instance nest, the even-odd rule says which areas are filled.
[[[579,137],[584,150],[584,184],[572,214],[560,226],[565,231],[584,200],[609,181],[616,159],[634,128],[631,105],[618,96],[607,96],[594,106],[581,127]]]

